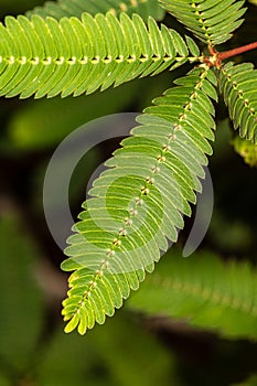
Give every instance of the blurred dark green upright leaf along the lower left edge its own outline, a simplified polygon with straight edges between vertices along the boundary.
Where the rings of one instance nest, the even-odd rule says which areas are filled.
[[[34,356],[43,302],[33,278],[36,250],[17,216],[0,219],[0,356],[18,371]],[[2,384],[1,384],[2,385]]]

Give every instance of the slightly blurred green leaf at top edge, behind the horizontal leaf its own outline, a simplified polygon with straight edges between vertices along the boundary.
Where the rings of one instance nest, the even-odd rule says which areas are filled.
[[[43,7],[35,7],[32,11],[26,12],[28,17],[38,14],[42,18],[52,17],[56,20],[61,18],[76,17],[81,18],[83,12],[93,15],[97,13],[113,12],[118,15],[126,12],[139,14],[143,20],[152,17],[156,20],[162,20],[164,10],[159,6],[158,0],[58,0],[46,1]]]

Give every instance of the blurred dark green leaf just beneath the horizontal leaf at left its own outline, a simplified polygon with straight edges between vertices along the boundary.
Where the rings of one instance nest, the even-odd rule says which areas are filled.
[[[72,130],[89,120],[122,110],[138,92],[139,83],[129,83],[86,97],[31,100],[11,118],[8,128],[10,142],[19,150],[56,146]]]

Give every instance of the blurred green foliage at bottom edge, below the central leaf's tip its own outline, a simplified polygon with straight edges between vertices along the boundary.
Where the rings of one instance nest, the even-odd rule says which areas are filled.
[[[57,331],[45,349],[40,386],[180,385],[172,355],[122,312],[86,336]]]

